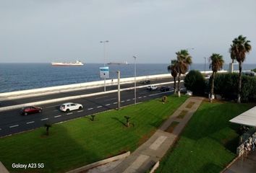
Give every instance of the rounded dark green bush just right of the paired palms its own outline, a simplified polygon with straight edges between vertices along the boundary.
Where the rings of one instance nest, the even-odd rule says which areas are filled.
[[[189,71],[185,76],[184,86],[193,92],[193,94],[204,94],[205,92],[205,78],[200,71]]]

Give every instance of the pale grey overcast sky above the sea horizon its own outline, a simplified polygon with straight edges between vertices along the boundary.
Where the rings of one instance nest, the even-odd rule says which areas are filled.
[[[0,63],[193,63],[244,35],[256,63],[255,0],[0,0]],[[106,43],[106,58],[104,46]]]

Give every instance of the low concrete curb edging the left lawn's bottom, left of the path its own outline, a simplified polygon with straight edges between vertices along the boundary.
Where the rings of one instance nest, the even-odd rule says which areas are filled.
[[[119,160],[119,159],[124,159],[127,156],[129,156],[130,154],[131,154],[131,152],[127,151],[125,154],[120,154],[118,156],[113,156],[113,157],[108,158],[108,159],[103,159],[101,161],[94,162],[93,164],[88,164],[88,165],[85,165],[84,167],[73,169],[73,170],[71,170],[69,172],[66,172],[66,173],[79,173],[79,172],[91,169],[93,167],[98,167],[102,164],[108,164],[109,162],[112,162],[112,161],[116,161],[116,160]]]

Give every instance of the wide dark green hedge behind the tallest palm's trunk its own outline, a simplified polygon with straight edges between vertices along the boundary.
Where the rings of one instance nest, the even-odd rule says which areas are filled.
[[[217,74],[214,93],[226,99],[237,99],[239,74]],[[256,78],[242,75],[242,102],[256,100]]]

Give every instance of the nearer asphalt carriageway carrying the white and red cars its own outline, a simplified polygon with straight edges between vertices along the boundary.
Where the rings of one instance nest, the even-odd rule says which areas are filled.
[[[116,87],[114,88],[116,89]],[[137,89],[137,102],[162,97],[172,94],[171,92],[148,91],[145,88]],[[43,112],[32,115],[20,115],[20,109],[0,112],[0,136],[8,136],[25,130],[39,128],[47,123],[61,123],[77,117],[92,115],[97,112],[112,110],[117,107],[117,93],[103,94],[93,97],[70,100],[70,102],[83,105],[82,110],[72,112],[59,111],[59,105],[63,102],[54,102],[48,105],[40,105]],[[121,92],[121,107],[134,104],[134,90]]]

